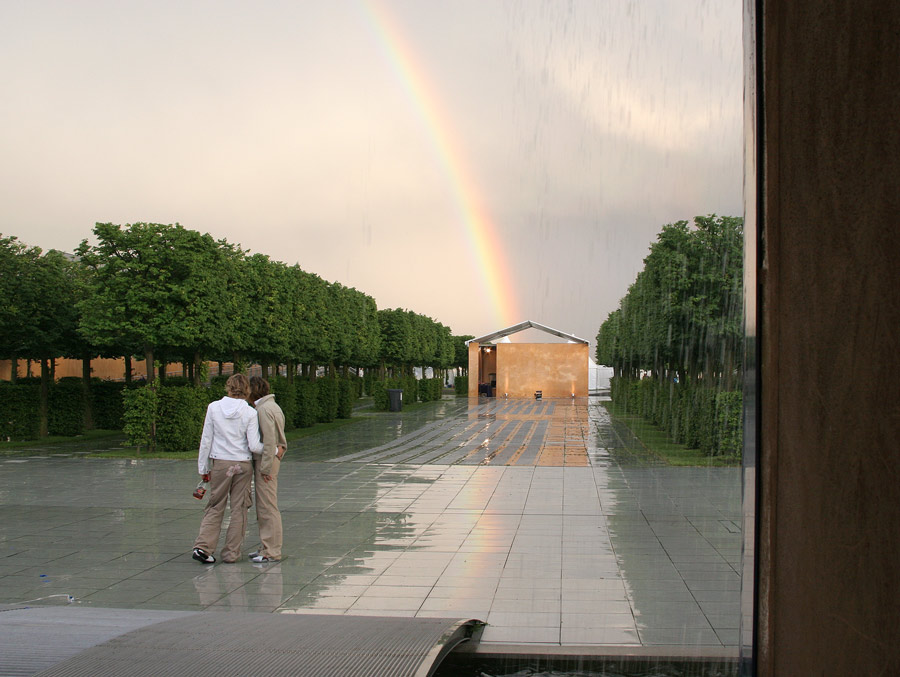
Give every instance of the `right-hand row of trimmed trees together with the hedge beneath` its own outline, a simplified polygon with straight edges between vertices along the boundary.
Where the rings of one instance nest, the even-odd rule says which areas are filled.
[[[614,403],[676,441],[739,453],[742,280],[741,218],[664,226],[597,333],[597,362],[615,373]]]

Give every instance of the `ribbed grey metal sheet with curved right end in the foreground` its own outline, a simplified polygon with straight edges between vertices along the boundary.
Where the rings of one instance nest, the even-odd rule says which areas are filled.
[[[481,626],[451,618],[204,612],[128,632],[40,675],[425,677]]]

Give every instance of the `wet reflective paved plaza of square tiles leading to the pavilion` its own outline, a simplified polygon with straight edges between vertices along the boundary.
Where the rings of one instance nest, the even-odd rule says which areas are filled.
[[[595,399],[367,417],[291,446],[286,558],[268,566],[191,559],[194,461],[5,457],[0,604],[470,617],[488,622],[483,643],[737,646],[739,469],[633,447]],[[245,550],[255,534],[251,519]]]

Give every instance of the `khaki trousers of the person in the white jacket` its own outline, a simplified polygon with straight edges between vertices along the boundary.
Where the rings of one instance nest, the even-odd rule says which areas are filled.
[[[219,543],[219,532],[225,518],[225,504],[231,501],[231,515],[225,531],[225,547],[222,548],[223,562],[236,562],[241,556],[241,545],[247,531],[247,510],[250,508],[250,482],[253,478],[253,464],[250,461],[222,461],[214,458],[209,473],[209,502],[200,522],[200,533],[194,547],[213,554]],[[240,465],[240,472],[228,477],[228,469]]]

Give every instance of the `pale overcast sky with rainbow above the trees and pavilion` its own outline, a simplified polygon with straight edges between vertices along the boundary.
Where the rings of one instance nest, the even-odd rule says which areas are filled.
[[[0,0],[0,64],[3,234],[178,222],[455,334],[593,341],[742,211],[738,0]]]

